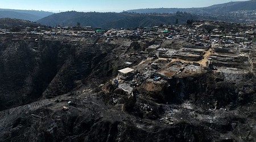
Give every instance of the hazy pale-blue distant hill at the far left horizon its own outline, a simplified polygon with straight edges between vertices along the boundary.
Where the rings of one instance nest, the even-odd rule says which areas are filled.
[[[36,21],[52,14],[52,12],[36,10],[0,9],[0,18],[16,18],[30,21]]]

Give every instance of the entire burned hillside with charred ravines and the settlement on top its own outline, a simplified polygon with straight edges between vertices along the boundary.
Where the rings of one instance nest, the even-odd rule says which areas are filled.
[[[2,30],[0,140],[255,141],[255,25],[227,25]]]

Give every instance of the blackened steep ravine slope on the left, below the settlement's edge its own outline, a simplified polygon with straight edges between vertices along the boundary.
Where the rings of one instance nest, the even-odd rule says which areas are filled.
[[[106,56],[105,49],[94,46],[96,41],[46,40],[40,36],[1,38],[0,110],[72,90],[76,81],[89,76]]]

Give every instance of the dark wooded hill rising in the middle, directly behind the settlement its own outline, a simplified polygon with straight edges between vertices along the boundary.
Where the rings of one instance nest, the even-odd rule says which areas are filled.
[[[185,23],[188,19],[197,19],[191,14],[133,14],[128,12],[76,12],[68,11],[47,16],[37,22],[47,26],[76,26],[79,22],[82,26],[102,28],[127,28],[157,26],[159,24],[175,24],[176,19]]]

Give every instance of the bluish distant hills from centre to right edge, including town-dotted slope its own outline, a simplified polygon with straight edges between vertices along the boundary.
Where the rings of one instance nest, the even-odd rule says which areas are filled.
[[[254,11],[255,10],[255,11]],[[247,12],[249,13],[247,13]],[[238,12],[239,14],[237,14]],[[115,12],[60,12],[37,20],[47,26],[82,26],[102,28],[130,28],[175,24],[176,19],[185,23],[193,20],[223,20],[225,22],[246,22],[256,19],[256,1],[228,2],[201,8],[160,8]]]

